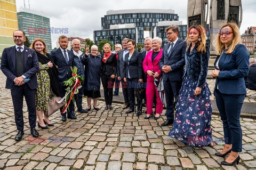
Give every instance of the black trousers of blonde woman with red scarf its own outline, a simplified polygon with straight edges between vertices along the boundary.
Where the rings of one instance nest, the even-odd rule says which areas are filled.
[[[113,101],[113,87],[115,78],[111,78],[111,75],[102,74],[101,82],[104,89],[104,98],[106,105],[111,105]]]

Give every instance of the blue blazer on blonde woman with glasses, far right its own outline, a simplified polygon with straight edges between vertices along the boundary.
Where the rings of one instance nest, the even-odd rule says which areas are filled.
[[[250,54],[243,44],[237,44],[231,54],[226,54],[226,51],[227,49],[223,51],[221,57],[218,55],[214,62],[215,66],[220,58],[218,64],[220,72],[214,90],[218,85],[220,93],[223,94],[246,94],[244,77],[249,72]]]

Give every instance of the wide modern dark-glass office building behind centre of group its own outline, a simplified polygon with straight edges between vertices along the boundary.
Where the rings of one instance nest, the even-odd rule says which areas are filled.
[[[143,43],[145,36],[155,37],[154,29],[158,22],[178,20],[179,16],[174,14],[174,10],[110,10],[101,18],[101,30],[94,30],[94,43],[108,39],[113,44],[121,44],[125,37]]]

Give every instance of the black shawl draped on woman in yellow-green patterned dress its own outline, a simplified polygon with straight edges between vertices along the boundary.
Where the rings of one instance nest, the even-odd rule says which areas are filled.
[[[38,57],[38,62],[41,64],[47,64],[49,61],[53,63],[53,67],[47,69],[47,73],[50,76],[50,86],[53,91],[53,93],[57,96],[60,96],[60,87],[59,87],[59,82],[58,82],[58,69],[56,68],[56,65],[54,64],[52,57],[50,54],[46,54],[47,56],[36,52],[37,57]]]

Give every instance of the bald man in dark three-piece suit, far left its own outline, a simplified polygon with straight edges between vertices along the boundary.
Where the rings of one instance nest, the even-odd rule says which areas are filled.
[[[25,33],[21,30],[13,32],[15,46],[5,48],[2,55],[1,69],[7,77],[5,88],[11,89],[12,102],[15,115],[15,124],[18,134],[15,141],[20,141],[24,134],[23,122],[23,96],[28,107],[30,132],[38,137],[36,131],[35,95],[37,88],[36,72],[39,69],[36,52],[24,45]]]

